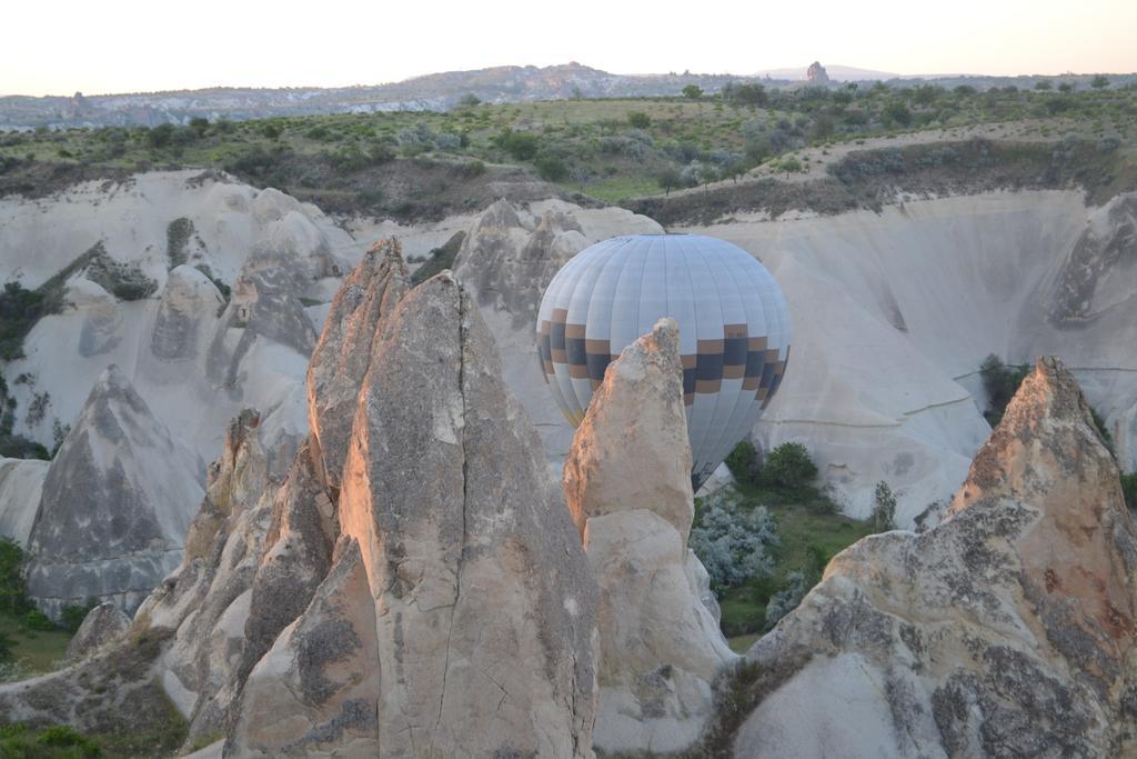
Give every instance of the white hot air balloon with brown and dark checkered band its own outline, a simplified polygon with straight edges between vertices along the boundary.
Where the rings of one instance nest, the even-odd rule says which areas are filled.
[[[608,363],[663,316],[679,323],[698,490],[754,427],[789,360],[786,298],[754,256],[699,234],[634,234],[586,248],[545,290],[538,355],[576,427]]]

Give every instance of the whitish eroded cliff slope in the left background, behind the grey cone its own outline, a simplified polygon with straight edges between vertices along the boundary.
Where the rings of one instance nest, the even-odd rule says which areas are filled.
[[[93,247],[140,267],[157,294],[119,300],[77,273]],[[14,432],[50,448],[55,423],[74,423],[114,363],[194,454],[186,465],[216,459],[229,419],[262,409],[259,434],[281,476],[307,431],[302,382],[315,332],[300,298],[330,299],[337,272],[363,249],[310,204],[183,171],[0,198],[0,253],[2,281],[61,288],[61,311],[35,324],[26,357],[5,369],[32,378],[10,385],[20,410]],[[223,317],[215,283],[235,289]],[[45,413],[23,413],[35,396],[50,397]]]

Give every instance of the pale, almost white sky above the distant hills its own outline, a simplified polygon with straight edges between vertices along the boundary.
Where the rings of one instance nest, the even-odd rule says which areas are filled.
[[[0,94],[379,84],[576,60],[614,73],[841,64],[1137,72],[1137,0],[16,0]]]

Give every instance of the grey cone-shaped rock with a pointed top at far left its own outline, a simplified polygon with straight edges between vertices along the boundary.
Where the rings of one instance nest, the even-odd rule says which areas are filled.
[[[52,616],[89,597],[133,612],[181,561],[202,469],[108,369],[48,469],[28,595]]]

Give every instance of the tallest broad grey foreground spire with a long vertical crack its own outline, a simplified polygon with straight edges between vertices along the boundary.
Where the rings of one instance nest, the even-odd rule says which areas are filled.
[[[339,503],[375,600],[384,753],[589,756],[596,588],[547,471],[470,296],[447,273],[412,290],[372,349]]]

